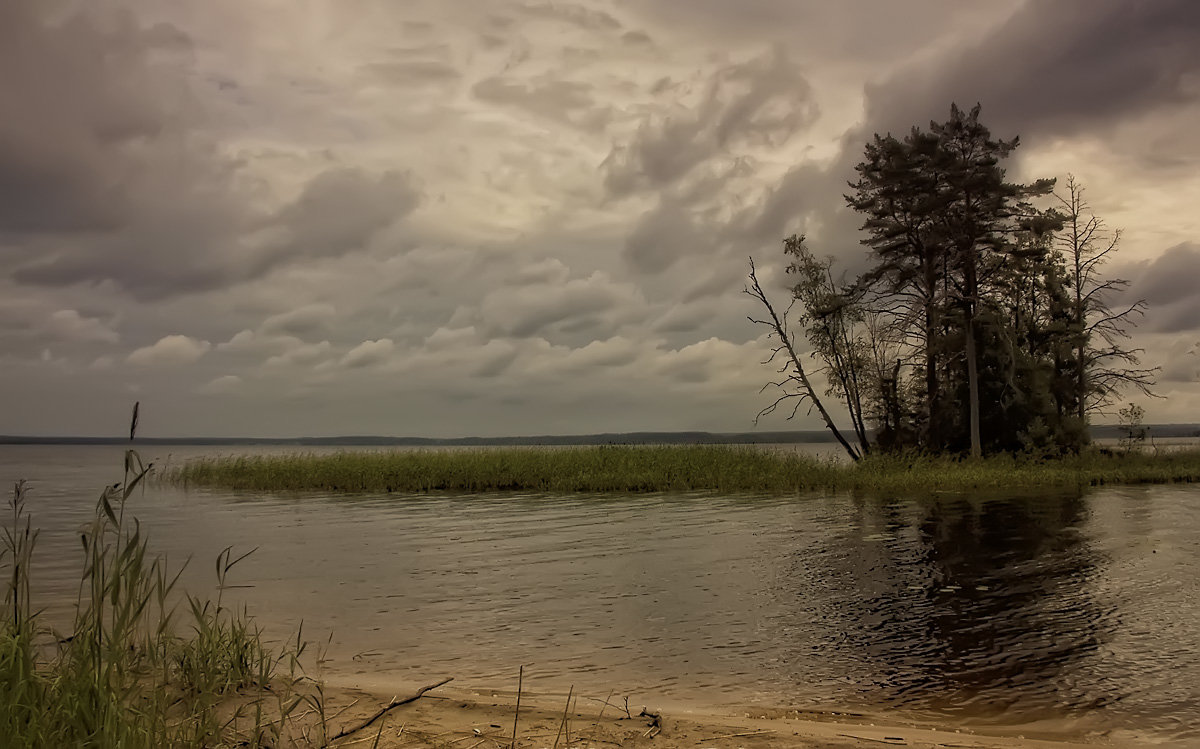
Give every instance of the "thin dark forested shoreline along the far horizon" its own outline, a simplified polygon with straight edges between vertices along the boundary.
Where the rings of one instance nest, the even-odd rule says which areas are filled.
[[[1152,424],[1152,439],[1200,437],[1200,424]],[[1092,439],[1121,437],[1116,425],[1091,429]],[[350,435],[324,437],[138,437],[133,445],[397,445],[397,447],[492,447],[492,445],[604,445],[604,444],[823,444],[834,439],[826,430],[770,432],[601,432],[595,435],[536,435],[528,437],[384,437]],[[131,444],[126,437],[30,437],[0,435],[0,445],[108,445]]]

